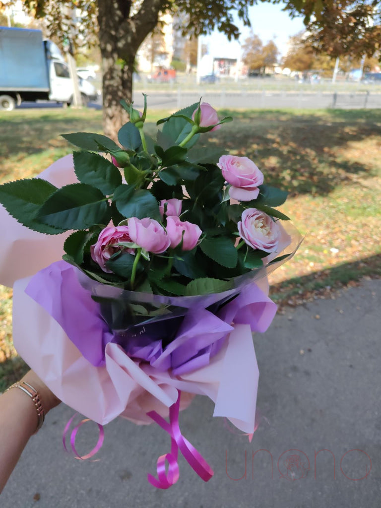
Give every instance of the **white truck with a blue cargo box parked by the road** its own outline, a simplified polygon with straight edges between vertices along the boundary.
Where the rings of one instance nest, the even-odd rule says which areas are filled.
[[[79,78],[82,103],[96,101],[97,90]],[[50,100],[70,105],[74,83],[58,47],[40,30],[0,27],[0,110],[23,101]]]

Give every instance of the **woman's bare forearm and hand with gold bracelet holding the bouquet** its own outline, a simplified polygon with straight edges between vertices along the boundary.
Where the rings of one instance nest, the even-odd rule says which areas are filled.
[[[30,370],[22,381],[33,386],[40,395],[45,415],[59,404],[59,400]],[[3,491],[29,437],[39,423],[33,400],[19,388],[12,388],[0,396],[0,493]]]

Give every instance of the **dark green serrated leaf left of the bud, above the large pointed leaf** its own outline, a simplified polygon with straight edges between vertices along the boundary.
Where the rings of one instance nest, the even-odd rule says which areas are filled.
[[[91,152],[73,152],[73,155],[75,174],[80,182],[97,187],[105,196],[121,185],[120,171],[102,155]]]

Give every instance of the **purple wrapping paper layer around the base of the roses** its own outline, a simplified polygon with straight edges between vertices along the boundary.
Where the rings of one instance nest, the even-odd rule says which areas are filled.
[[[94,366],[105,365],[106,344],[115,342],[130,357],[144,360],[158,371],[171,368],[174,375],[184,374],[209,364],[233,331],[233,322],[250,325],[252,332],[262,332],[270,325],[276,312],[276,305],[256,283],[244,285],[240,294],[221,306],[216,315],[201,307],[201,304],[210,305],[210,302],[215,304],[216,295],[203,298],[148,295],[151,300],[164,298],[172,307],[175,303],[185,307],[189,306],[189,302],[196,302],[195,307],[185,310],[180,324],[178,319],[171,319],[171,314],[157,317],[157,322],[148,320],[150,326],[177,327],[174,340],[163,346],[162,340],[149,336],[144,323],[125,332],[111,330],[102,316],[100,304],[91,298],[90,289],[83,287],[91,288],[93,281],[88,279],[85,284],[83,282],[83,273],[65,261],[58,261],[38,272],[25,292],[54,318],[84,358]],[[99,293],[99,284],[95,287]],[[103,289],[112,298],[115,298],[115,293],[120,296],[131,293],[111,287]],[[136,294],[133,295],[136,298]],[[221,296],[224,298],[221,299]],[[225,293],[219,295],[219,299],[224,301]],[[183,310],[183,307],[178,308]]]

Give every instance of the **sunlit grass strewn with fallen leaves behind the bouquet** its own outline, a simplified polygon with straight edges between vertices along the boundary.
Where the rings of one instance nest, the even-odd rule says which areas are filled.
[[[147,129],[168,111],[153,111]],[[302,301],[359,277],[381,275],[381,113],[378,110],[220,111],[234,122],[204,135],[250,157],[268,184],[290,192],[282,210],[306,237],[290,263],[271,274],[279,302]],[[59,134],[102,132],[94,110],[0,113],[0,181],[35,176],[72,147]],[[329,289],[327,289],[329,288]],[[20,376],[12,346],[11,298],[0,293],[0,391]]]

